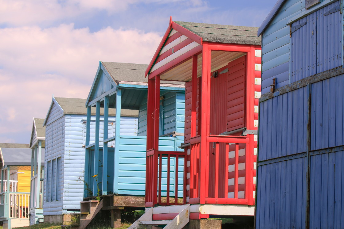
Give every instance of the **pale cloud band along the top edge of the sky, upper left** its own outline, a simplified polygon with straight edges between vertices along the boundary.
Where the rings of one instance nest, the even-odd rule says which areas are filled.
[[[126,21],[135,22],[139,15],[146,20],[153,14],[162,12],[178,13],[184,10],[203,12],[209,3],[205,0],[0,0],[0,26],[57,26],[61,23],[97,21],[106,14],[106,21],[113,19],[108,16],[123,14]],[[171,9],[173,9],[171,11]],[[201,15],[198,15],[201,16]],[[159,23],[159,22],[155,22]],[[101,26],[101,23],[98,23]]]

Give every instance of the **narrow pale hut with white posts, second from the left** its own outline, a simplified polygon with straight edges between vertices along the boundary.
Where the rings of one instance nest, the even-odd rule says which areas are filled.
[[[31,148],[30,181],[30,225],[43,222],[43,178],[45,127],[44,118],[33,118]],[[43,166],[39,166],[43,164]]]

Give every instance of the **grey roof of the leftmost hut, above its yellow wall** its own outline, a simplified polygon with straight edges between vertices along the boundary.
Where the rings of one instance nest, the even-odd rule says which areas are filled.
[[[11,170],[27,170],[31,166],[31,152],[29,144],[0,143],[2,165],[9,165]],[[42,154],[44,155],[44,149],[42,149]],[[42,157],[41,165],[44,165],[44,157]]]

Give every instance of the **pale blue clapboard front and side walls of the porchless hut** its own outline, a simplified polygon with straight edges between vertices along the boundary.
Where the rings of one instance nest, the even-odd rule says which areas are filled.
[[[50,114],[56,117],[58,106],[53,106]],[[47,120],[52,120],[50,115]],[[95,116],[91,116],[91,120],[95,120]],[[80,209],[80,201],[83,201],[83,182],[77,182],[78,177],[83,176],[85,170],[85,130],[86,115],[63,115],[61,118],[46,125],[46,153],[45,153],[45,171],[47,161],[55,158],[61,158],[60,166],[57,169],[60,182],[57,182],[57,194],[59,201],[46,201],[44,198],[44,215],[61,215],[67,213],[66,209]],[[116,118],[109,117],[109,137],[115,135]],[[94,123],[94,122],[93,122]],[[103,125],[100,122],[100,125]],[[137,135],[138,118],[137,117],[121,117],[120,134],[121,135]],[[113,128],[112,128],[113,127]],[[94,142],[95,126],[91,125],[91,144]],[[103,129],[100,127],[100,129]],[[93,142],[92,142],[93,138]],[[103,133],[100,133],[100,144],[103,145]],[[113,146],[115,142],[110,142]],[[56,170],[54,170],[56,174]],[[48,186],[46,186],[48,185]],[[55,183],[47,182],[44,179],[44,193],[46,195],[48,187],[53,196],[56,196]],[[51,195],[50,195],[51,196]]]

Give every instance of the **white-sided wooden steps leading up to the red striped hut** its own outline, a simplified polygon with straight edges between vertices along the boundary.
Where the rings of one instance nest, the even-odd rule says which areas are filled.
[[[177,214],[172,220],[153,220],[153,211],[155,211],[154,214],[159,214],[159,212],[164,214],[166,209],[176,209],[176,206],[151,207],[128,229],[136,229],[139,228],[140,225],[166,225],[163,227],[164,229],[182,229],[190,221],[190,204],[177,206],[179,209],[178,212],[171,212]]]

